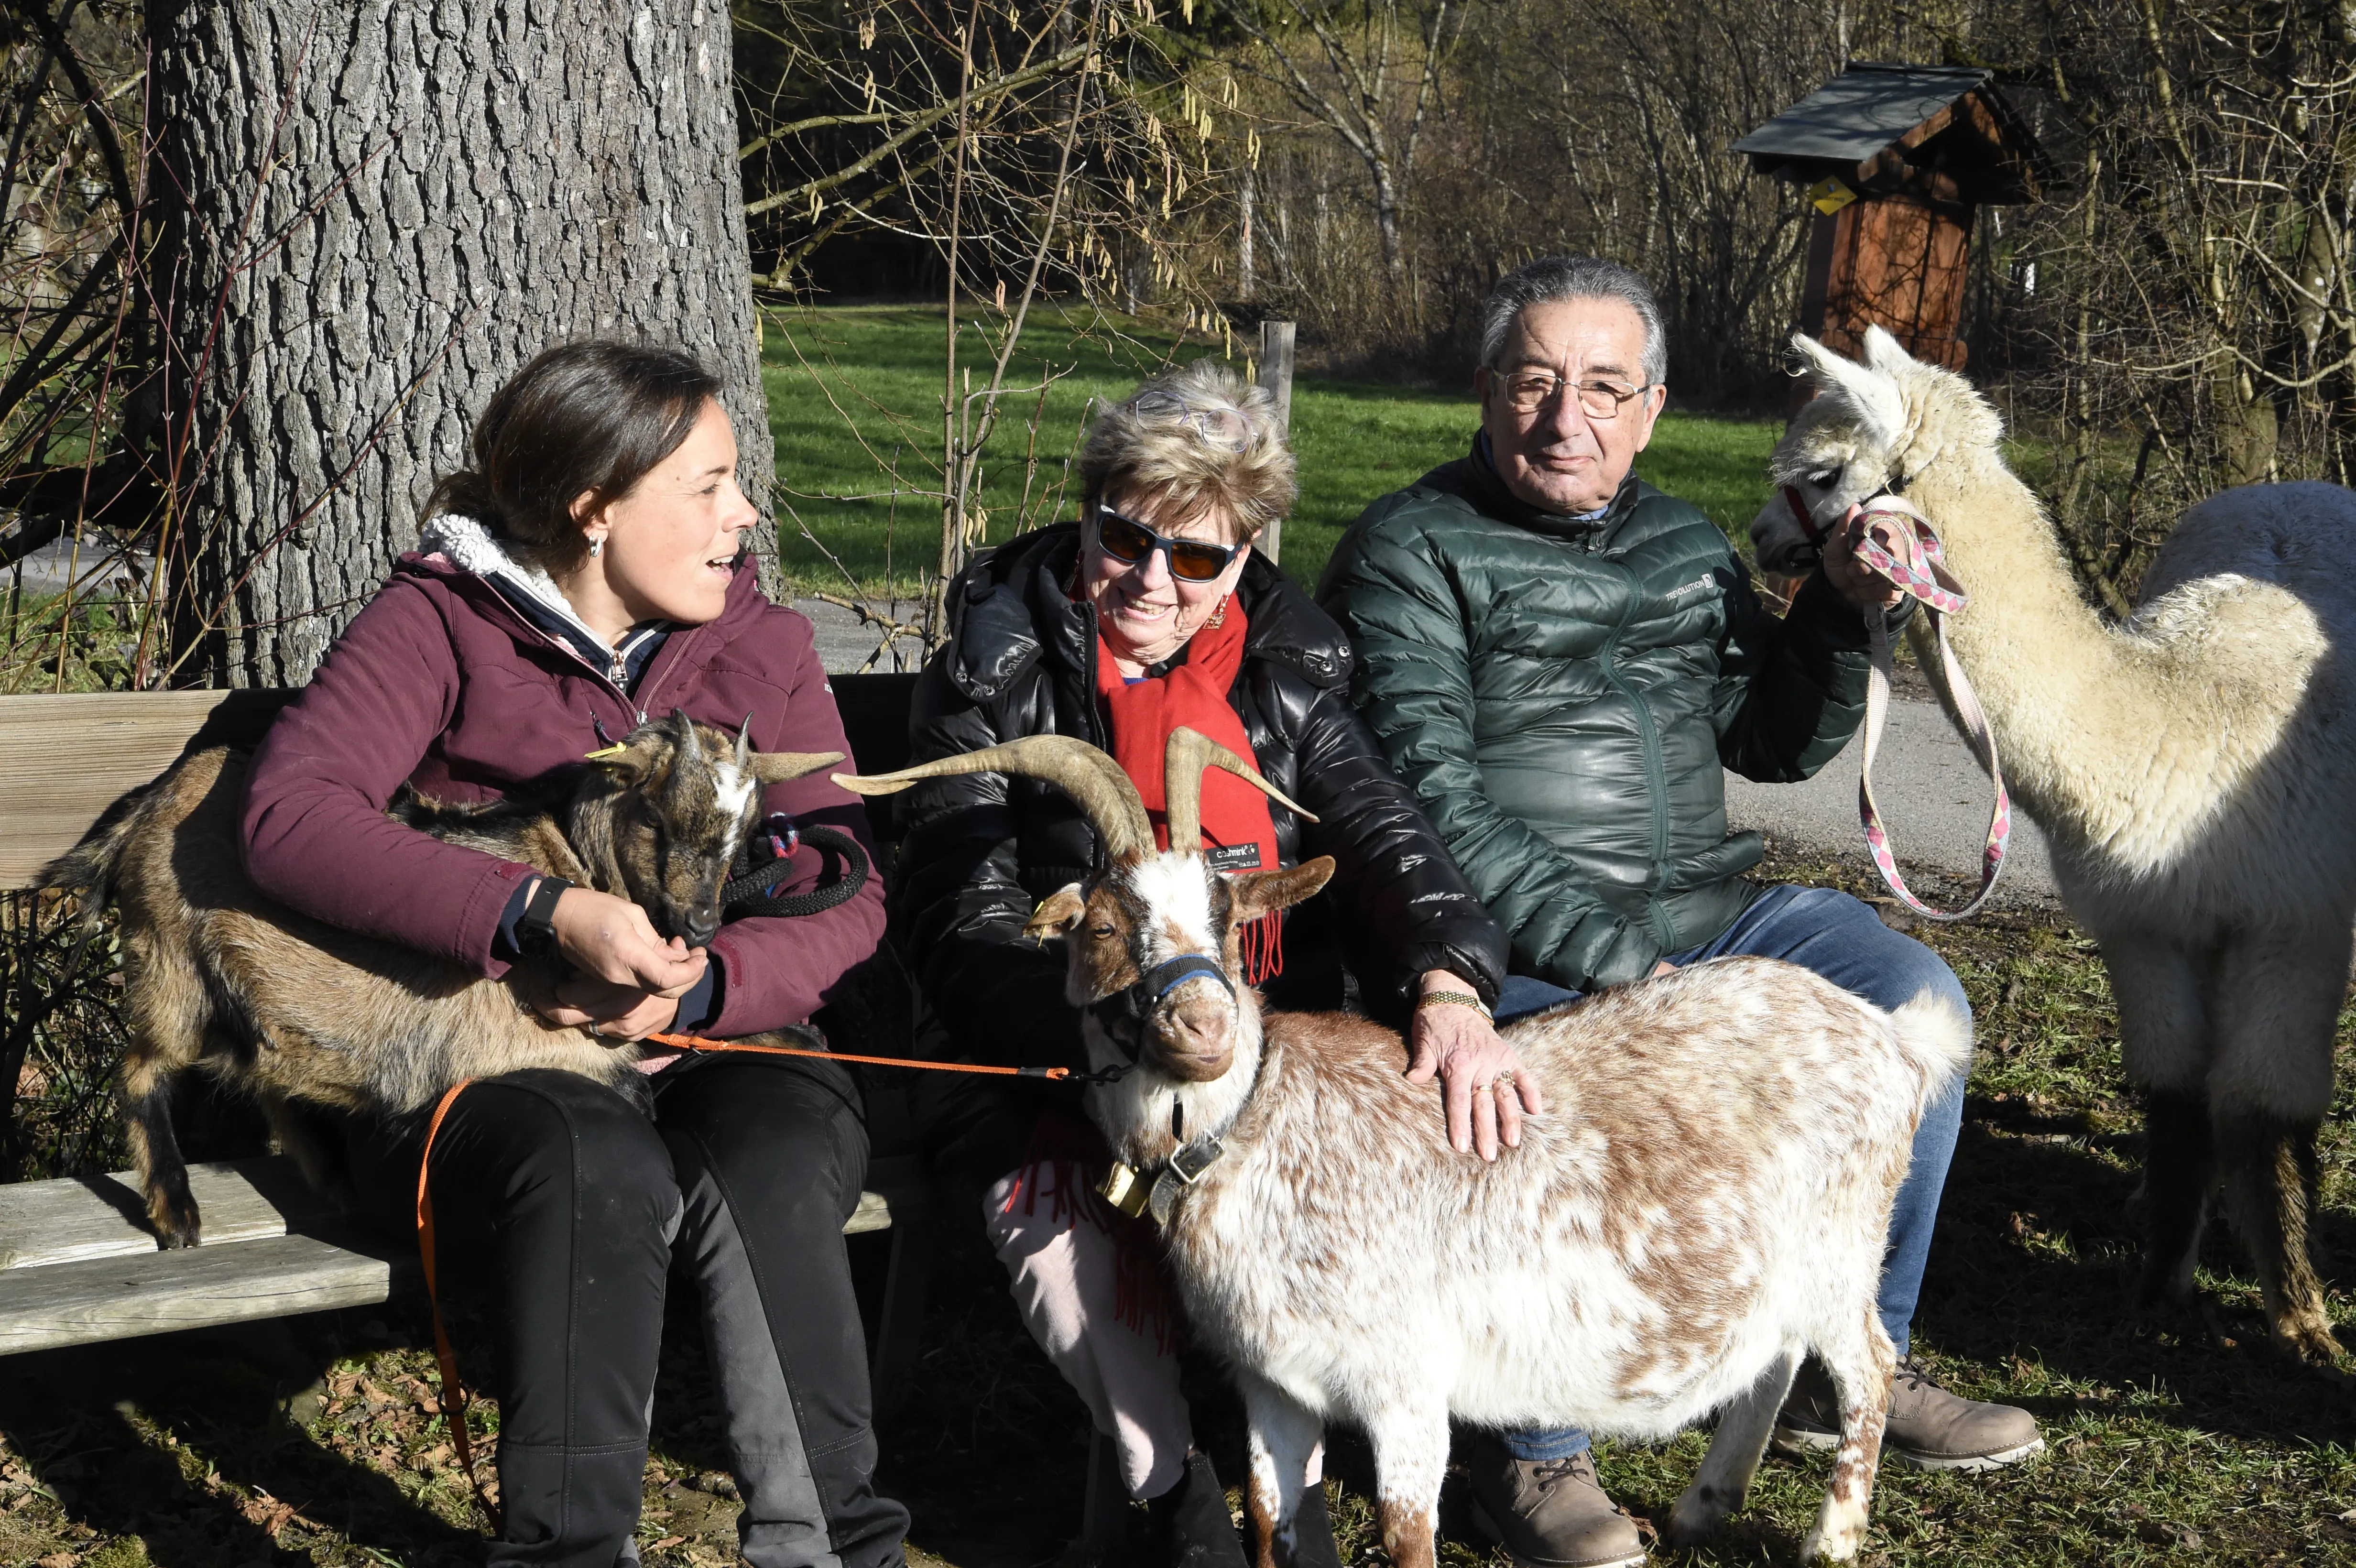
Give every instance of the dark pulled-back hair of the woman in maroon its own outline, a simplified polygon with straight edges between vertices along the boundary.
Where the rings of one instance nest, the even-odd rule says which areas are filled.
[[[558,344],[492,393],[474,421],[474,466],[434,485],[426,518],[474,518],[530,565],[565,572],[589,553],[573,499],[629,494],[719,391],[679,348]]]

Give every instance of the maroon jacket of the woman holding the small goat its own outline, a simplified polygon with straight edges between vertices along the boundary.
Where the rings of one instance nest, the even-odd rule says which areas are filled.
[[[401,784],[443,800],[549,789],[605,744],[596,723],[622,739],[641,713],[671,709],[730,735],[752,713],[756,751],[851,751],[810,622],[763,598],[749,563],[719,619],[674,631],[634,697],[483,577],[441,556],[403,556],[254,753],[245,869],[287,909],[499,977],[499,913],[532,869],[389,819]],[[825,772],[773,784],[763,803],[843,829],[874,857],[865,808]],[[796,888],[808,888],[818,857],[799,859]],[[825,913],[726,923],[709,946],[721,1015],[704,1034],[810,1017],[881,935],[881,876]]]

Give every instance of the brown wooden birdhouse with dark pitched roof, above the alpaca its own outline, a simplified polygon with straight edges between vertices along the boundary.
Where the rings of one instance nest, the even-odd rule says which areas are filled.
[[[1981,205],[2040,198],[2045,158],[1993,71],[1852,61],[1734,144],[1816,207],[1800,330],[1840,353],[1887,327],[1963,370],[1963,285]]]

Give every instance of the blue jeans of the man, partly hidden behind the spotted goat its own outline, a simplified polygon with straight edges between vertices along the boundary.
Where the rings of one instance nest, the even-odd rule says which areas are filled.
[[[1871,906],[1831,888],[1769,888],[1722,937],[1685,954],[1670,954],[1668,963],[1685,965],[1732,956],[1798,963],[1835,986],[1864,996],[1875,1008],[1897,1008],[1922,991],[1934,991],[1955,1003],[1965,1017],[1972,1012],[1963,984],[1939,954],[1890,930]],[[1579,991],[1564,991],[1529,975],[1510,975],[1496,998],[1496,1022],[1543,1012],[1567,1001],[1579,1001]],[[1890,1250],[1882,1255],[1882,1293],[1875,1304],[1899,1356],[1906,1354],[1915,1302],[1922,1297],[1922,1264],[1930,1262],[1930,1234],[1939,1220],[1939,1189],[1946,1187],[1946,1163],[1955,1158],[1960,1132],[1963,1083],[1955,1083],[1953,1090],[1922,1109],[1913,1161],[1906,1165],[1906,1182],[1890,1210]],[[1569,1460],[1586,1450],[1588,1434],[1576,1427],[1555,1427],[1550,1431],[1510,1431],[1503,1441],[1505,1453],[1515,1460]]]

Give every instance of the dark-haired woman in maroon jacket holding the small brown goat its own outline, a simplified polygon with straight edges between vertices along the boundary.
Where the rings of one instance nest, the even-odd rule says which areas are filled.
[[[483,410],[474,469],[426,506],[422,551],[327,650],[252,765],[245,859],[306,916],[502,975],[532,939],[530,866],[384,815],[547,789],[646,716],[686,709],[759,751],[848,751],[810,624],[754,584],[716,381],[662,348],[570,344]],[[867,838],[825,775],[773,812]],[[867,845],[872,852],[872,845]],[[803,881],[815,866],[803,869]],[[869,883],[818,916],[660,942],[636,904],[565,888],[544,916],[575,977],[528,998],[608,1038],[806,1019],[884,932]],[[674,1260],[702,1288],[754,1568],[902,1561],[872,1486],[867,1356],[841,1227],[867,1130],[832,1062],[648,1062],[653,1116],[573,1074],[471,1085],[434,1140],[443,1271],[495,1302],[502,1540],[490,1563],[634,1563],[646,1422]],[[422,1118],[346,1128],[363,1205],[405,1227]]]

